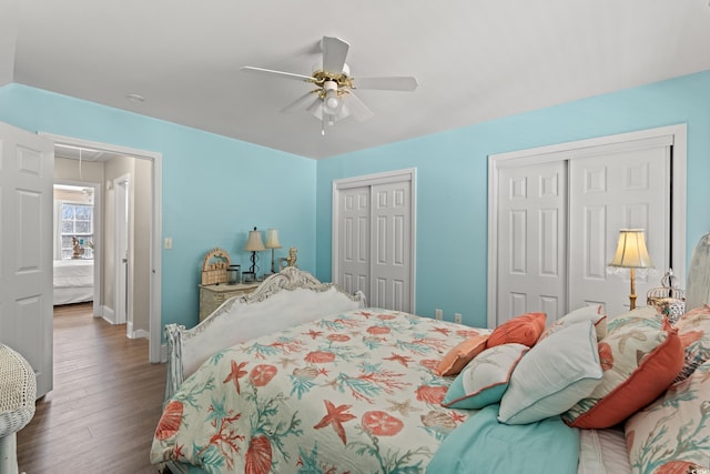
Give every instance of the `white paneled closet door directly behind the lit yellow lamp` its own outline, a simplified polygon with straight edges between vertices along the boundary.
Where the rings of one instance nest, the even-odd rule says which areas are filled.
[[[670,147],[605,153],[569,161],[569,307],[605,304],[628,311],[629,272],[609,274],[619,229],[645,229],[653,276],[637,271],[638,305],[670,265]]]

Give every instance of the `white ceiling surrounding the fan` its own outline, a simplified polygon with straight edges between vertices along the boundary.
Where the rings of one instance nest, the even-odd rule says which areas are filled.
[[[351,74],[414,75],[358,91],[375,117],[280,110],[318,41]],[[710,70],[708,0],[2,0],[0,85],[18,82],[314,159]],[[142,103],[126,99],[140,94]]]

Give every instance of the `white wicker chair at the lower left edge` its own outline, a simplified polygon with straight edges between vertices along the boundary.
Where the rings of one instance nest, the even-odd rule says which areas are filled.
[[[32,366],[0,344],[0,473],[18,473],[16,433],[32,420],[36,395]]]

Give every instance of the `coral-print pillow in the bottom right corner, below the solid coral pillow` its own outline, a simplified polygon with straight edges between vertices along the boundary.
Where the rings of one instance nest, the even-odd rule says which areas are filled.
[[[633,472],[696,472],[710,464],[710,362],[631,416],[625,425]],[[672,467],[682,467],[679,471]],[[701,470],[698,472],[702,472]]]

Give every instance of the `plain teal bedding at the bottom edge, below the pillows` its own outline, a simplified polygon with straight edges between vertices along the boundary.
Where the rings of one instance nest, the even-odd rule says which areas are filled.
[[[430,474],[576,473],[579,428],[560,416],[525,425],[498,423],[488,405],[454,430],[426,467]]]

